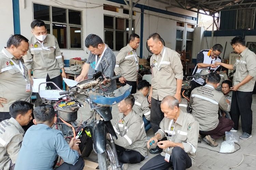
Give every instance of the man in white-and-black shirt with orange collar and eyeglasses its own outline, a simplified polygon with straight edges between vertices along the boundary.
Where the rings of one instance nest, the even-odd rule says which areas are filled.
[[[221,62],[221,57],[219,56],[222,53],[223,47],[220,44],[215,44],[210,50],[202,50],[197,54],[197,65],[193,71],[195,73],[200,73],[203,69],[209,69],[215,71],[221,71],[221,67],[215,65],[215,62]],[[194,79],[190,81],[191,91],[200,87],[204,84],[202,78]],[[190,94],[189,94],[190,95]]]

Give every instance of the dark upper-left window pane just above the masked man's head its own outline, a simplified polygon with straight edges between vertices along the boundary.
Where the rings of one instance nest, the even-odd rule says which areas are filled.
[[[50,21],[50,8],[47,5],[33,4],[34,19]]]

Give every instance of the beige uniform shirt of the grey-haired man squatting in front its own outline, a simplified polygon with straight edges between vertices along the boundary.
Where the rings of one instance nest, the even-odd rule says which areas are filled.
[[[196,150],[197,150],[197,141],[199,133],[199,124],[194,118],[193,115],[184,113],[180,110],[180,116],[174,123],[166,117],[160,122],[160,129],[155,133],[161,135],[161,139],[167,137],[167,140],[173,141],[175,143],[182,143],[184,151],[191,158],[192,165],[196,162]],[[160,139],[160,140],[161,140]],[[171,155],[172,149],[163,149],[161,153],[162,156],[165,156],[165,153]]]

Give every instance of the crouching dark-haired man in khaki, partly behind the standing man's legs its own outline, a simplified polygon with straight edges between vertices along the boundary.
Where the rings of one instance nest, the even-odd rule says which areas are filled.
[[[146,97],[149,91],[149,86],[150,84],[146,80],[140,80],[137,86],[137,93],[132,94],[135,98],[135,103],[132,109],[142,118],[146,132],[151,128],[150,106]]]

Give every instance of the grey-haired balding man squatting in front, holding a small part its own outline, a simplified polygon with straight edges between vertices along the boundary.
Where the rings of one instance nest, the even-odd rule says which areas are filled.
[[[161,101],[164,118],[160,129],[147,142],[157,142],[163,152],[151,158],[140,170],[168,169],[184,170],[195,164],[199,124],[191,114],[184,113],[179,101],[173,96],[166,96]],[[164,137],[167,140],[159,141]],[[159,142],[158,142],[159,141]]]

